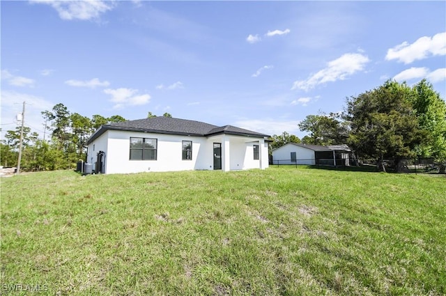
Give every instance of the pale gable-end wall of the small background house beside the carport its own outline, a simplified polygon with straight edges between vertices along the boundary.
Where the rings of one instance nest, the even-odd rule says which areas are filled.
[[[291,153],[295,152],[297,164],[309,164],[314,165],[316,161],[314,159],[314,150],[295,146],[292,143],[285,144],[272,151],[272,163],[273,164],[295,164],[291,162]]]

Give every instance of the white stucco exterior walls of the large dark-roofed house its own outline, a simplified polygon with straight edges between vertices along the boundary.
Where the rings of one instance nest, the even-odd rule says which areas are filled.
[[[130,137],[157,139],[157,160],[130,160]],[[192,141],[192,160],[183,160],[182,141]],[[206,138],[107,130],[89,144],[87,159],[94,169],[97,153],[105,151],[105,173],[212,170],[213,143],[222,143],[223,171],[268,168],[268,143],[231,135]],[[253,145],[259,145],[260,159],[254,159]]]

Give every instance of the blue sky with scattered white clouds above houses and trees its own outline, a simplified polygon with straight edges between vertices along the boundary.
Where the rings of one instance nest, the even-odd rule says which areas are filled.
[[[62,103],[303,137],[387,79],[446,94],[445,1],[1,1],[1,134]]]

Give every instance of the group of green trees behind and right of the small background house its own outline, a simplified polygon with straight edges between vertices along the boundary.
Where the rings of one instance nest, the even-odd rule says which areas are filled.
[[[361,159],[376,160],[380,171],[385,159],[398,164],[416,157],[433,158],[440,173],[446,170],[446,103],[426,79],[413,87],[385,81],[347,98],[341,113],[309,115],[299,128],[307,136],[274,135],[270,148],[290,142],[347,144]]]

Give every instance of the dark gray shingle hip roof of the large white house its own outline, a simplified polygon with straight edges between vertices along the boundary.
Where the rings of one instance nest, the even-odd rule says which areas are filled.
[[[209,137],[216,134],[236,134],[246,137],[269,137],[267,134],[245,130],[232,125],[218,127],[196,120],[187,120],[171,117],[153,117],[124,121],[122,123],[109,123],[102,125],[90,137],[87,144],[98,138],[106,130],[128,130],[134,132],[153,132],[157,134],[180,134],[187,136]]]

